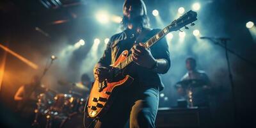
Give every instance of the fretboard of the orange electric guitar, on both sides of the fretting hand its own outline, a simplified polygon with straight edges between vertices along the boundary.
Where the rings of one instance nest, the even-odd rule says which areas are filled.
[[[148,49],[152,45],[156,44],[158,40],[163,38],[168,33],[169,33],[168,27],[156,33],[156,35],[152,36],[149,40],[147,40],[147,42],[145,42],[145,45],[144,45],[145,49]],[[116,67],[122,70],[125,67],[127,67],[127,65],[129,65],[129,63],[131,62],[132,62],[132,55],[130,54],[124,61],[120,62],[119,65],[117,65]]]

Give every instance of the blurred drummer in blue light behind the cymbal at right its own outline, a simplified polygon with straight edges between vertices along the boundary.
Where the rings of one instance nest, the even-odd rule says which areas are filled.
[[[209,77],[203,70],[196,69],[196,60],[194,58],[186,59],[186,68],[188,72],[182,77],[180,81],[186,81],[189,79],[196,79],[204,81],[204,85],[193,88],[193,104],[194,106],[209,106],[207,92],[211,90],[211,83]],[[188,88],[182,88],[181,86],[176,86],[177,92],[180,96],[184,97],[187,94]]]

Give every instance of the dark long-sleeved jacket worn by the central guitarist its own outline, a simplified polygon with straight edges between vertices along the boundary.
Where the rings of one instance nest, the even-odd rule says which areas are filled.
[[[143,38],[142,42],[146,42],[149,38],[154,36],[160,30],[161,29],[152,29],[149,33],[147,33],[145,38]],[[134,42],[134,39],[129,38],[125,33],[125,31],[123,31],[122,33],[113,35],[110,38],[109,43],[106,47],[106,50],[104,51],[104,54],[102,58],[100,58],[98,63],[100,63],[101,65],[111,65],[115,63],[115,61],[120,56],[122,51],[124,50],[129,51],[131,49],[133,42]],[[168,62],[168,68],[166,68],[166,72],[167,72],[170,68],[170,54],[169,54],[168,44],[166,40],[164,38],[159,40],[156,44],[150,47],[150,51],[152,56],[154,56],[155,59],[165,59]],[[163,90],[164,84],[161,81],[161,77],[156,72],[153,72],[152,70],[145,67],[140,67],[135,63],[133,63],[133,65],[131,65],[131,67],[129,68],[129,71],[131,70],[132,70],[131,76],[135,77],[134,79],[136,79],[136,81],[140,85],[159,86],[160,90]],[[136,72],[136,75],[134,75],[135,74],[134,72]]]

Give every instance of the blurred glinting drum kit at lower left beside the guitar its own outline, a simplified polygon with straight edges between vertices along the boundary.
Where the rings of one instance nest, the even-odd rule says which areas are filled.
[[[71,88],[68,93],[47,90],[38,95],[32,127],[83,127],[86,98]]]

